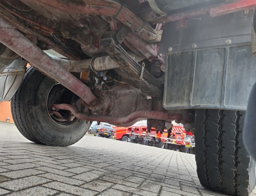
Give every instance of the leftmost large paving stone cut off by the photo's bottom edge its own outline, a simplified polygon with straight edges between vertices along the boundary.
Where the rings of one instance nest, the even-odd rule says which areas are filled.
[[[55,195],[59,193],[59,191],[55,191],[52,189],[47,189],[45,187],[33,187],[30,189],[26,189],[24,191],[14,192],[12,194],[9,194],[9,196],[41,196],[41,195]]]

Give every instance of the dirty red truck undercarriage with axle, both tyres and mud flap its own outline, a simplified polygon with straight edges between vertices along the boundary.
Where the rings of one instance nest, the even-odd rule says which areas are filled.
[[[148,130],[163,132],[175,120],[195,135],[200,183],[249,195],[255,162],[243,126],[247,108],[254,121],[245,127],[256,116],[254,91],[247,106],[256,81],[255,5],[1,0],[0,102],[11,100],[22,135],[52,146],[78,142],[91,121],[147,119]]]

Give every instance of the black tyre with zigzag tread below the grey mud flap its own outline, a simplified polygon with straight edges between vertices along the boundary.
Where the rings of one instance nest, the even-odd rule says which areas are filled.
[[[255,187],[255,162],[243,145],[245,112],[197,109],[195,159],[200,183],[213,191],[249,195]]]

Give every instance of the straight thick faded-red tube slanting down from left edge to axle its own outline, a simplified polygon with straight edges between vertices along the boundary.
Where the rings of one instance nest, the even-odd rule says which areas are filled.
[[[88,105],[98,104],[98,99],[91,89],[69,73],[28,38],[17,31],[13,26],[0,18],[0,42],[45,74],[61,83],[67,89],[82,98]]]

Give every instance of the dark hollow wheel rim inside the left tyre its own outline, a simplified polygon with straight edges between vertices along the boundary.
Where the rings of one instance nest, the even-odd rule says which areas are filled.
[[[63,85],[60,83],[54,83],[50,90],[48,91],[47,98],[46,98],[46,107],[48,111],[48,116],[50,117],[50,120],[54,122],[55,124],[62,126],[62,127],[69,127],[71,125],[74,125],[78,122],[78,118],[74,118],[72,121],[65,120],[62,118],[59,118],[56,116],[56,114],[50,114],[49,110],[52,110],[51,105],[52,104],[59,104],[59,103],[68,103],[75,101],[75,98],[77,96],[66,89]],[[59,110],[58,111],[62,116],[68,117],[70,116],[70,111],[66,110]]]

